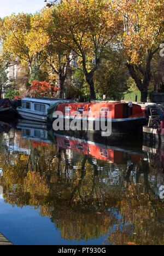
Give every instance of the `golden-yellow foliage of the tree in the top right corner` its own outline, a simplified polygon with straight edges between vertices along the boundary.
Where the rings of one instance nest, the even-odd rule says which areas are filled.
[[[132,63],[144,59],[148,49],[156,48],[163,38],[163,1],[118,0],[124,22],[124,49]]]

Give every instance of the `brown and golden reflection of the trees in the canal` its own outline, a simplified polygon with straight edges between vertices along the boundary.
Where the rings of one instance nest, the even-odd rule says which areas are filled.
[[[156,195],[163,176],[151,161],[116,165],[17,136],[19,144],[28,153],[0,148],[6,202],[38,209],[68,240],[108,234],[105,242],[116,245],[164,242]]]

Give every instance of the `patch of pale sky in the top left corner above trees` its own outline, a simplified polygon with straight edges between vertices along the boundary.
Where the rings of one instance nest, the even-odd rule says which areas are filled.
[[[36,13],[44,7],[44,0],[0,0],[0,17],[12,13]]]

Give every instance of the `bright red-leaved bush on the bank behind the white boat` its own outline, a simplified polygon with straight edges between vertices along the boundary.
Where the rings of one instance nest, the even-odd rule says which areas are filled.
[[[43,81],[33,81],[28,89],[28,94],[32,97],[54,97],[58,88],[50,83]]]

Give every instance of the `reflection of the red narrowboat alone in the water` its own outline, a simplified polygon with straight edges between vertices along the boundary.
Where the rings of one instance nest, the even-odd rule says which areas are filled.
[[[115,164],[123,164],[127,162],[127,159],[137,162],[143,158],[142,150],[138,151],[138,149],[135,151],[126,147],[102,144],[94,140],[86,141],[84,138],[60,135],[59,133],[54,133],[54,136],[58,148],[71,149],[74,152]]]

